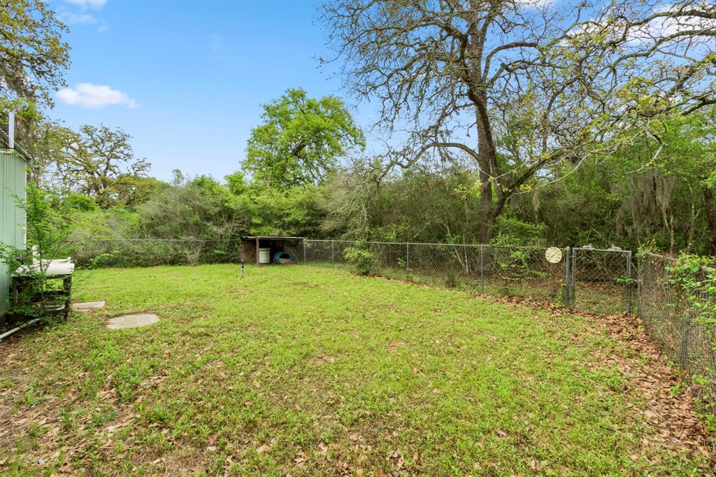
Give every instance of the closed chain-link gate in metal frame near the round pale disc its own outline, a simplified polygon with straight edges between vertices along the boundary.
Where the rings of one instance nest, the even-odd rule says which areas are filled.
[[[571,307],[584,312],[628,312],[632,302],[632,252],[575,247],[571,254]]]

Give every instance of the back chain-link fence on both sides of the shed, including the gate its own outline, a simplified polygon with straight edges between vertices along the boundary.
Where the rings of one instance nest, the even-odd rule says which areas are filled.
[[[392,279],[467,289],[491,295],[540,299],[587,312],[616,314],[632,309],[632,254],[619,249],[559,249],[546,259],[545,247],[411,244],[304,240],[299,261],[352,269],[349,247],[374,256],[373,273]],[[72,256],[79,268],[236,263],[241,239],[92,239],[69,241],[57,256]]]

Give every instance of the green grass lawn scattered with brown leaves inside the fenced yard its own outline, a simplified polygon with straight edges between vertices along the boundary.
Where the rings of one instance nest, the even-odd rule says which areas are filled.
[[[3,473],[708,472],[644,445],[601,359],[629,352],[585,317],[311,266],[104,269],[74,294],[107,307],[1,344]]]

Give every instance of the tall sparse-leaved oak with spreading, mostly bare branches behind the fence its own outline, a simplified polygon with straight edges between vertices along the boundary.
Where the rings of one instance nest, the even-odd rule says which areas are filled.
[[[347,89],[409,134],[386,170],[472,158],[482,241],[515,194],[716,101],[712,2],[339,0],[322,20]]]

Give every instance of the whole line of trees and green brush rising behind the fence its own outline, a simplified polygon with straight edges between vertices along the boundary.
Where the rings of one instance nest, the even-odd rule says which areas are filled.
[[[697,1],[336,1],[340,97],[263,106],[238,170],[151,178],[131,137],[44,117],[66,27],[0,6],[0,106],[74,240],[245,234],[716,254],[716,7]],[[22,81],[19,81],[22,78]],[[384,147],[367,153],[368,137]],[[241,151],[237,151],[237,154]],[[233,167],[227,167],[230,172]]]

